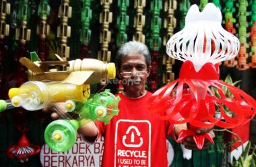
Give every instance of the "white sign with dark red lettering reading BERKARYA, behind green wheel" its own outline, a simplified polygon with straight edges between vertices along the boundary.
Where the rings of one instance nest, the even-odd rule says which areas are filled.
[[[104,137],[100,137],[95,143],[89,143],[82,135],[78,135],[75,144],[67,152],[53,152],[44,144],[40,152],[40,162],[44,167],[98,167],[101,166],[103,152]]]

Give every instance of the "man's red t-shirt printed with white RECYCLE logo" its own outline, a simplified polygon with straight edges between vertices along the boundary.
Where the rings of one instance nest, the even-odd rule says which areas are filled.
[[[118,95],[118,116],[108,125],[96,122],[105,140],[102,166],[167,166],[166,137],[173,126],[150,114],[146,102],[151,93],[135,99]]]

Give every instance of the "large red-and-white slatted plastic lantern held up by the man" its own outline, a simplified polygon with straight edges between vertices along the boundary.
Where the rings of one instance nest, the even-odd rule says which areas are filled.
[[[188,123],[177,141],[193,136],[199,149],[205,138],[214,141],[208,133],[195,134],[196,128],[236,127],[253,118],[256,110],[251,96],[219,80],[217,63],[234,58],[240,46],[238,39],[222,28],[221,21],[220,9],[213,3],[201,13],[197,5],[190,7],[185,28],[166,44],[170,57],[184,61],[179,79],[160,88],[148,101],[150,111],[160,118],[175,124]],[[219,118],[214,116],[217,111]]]

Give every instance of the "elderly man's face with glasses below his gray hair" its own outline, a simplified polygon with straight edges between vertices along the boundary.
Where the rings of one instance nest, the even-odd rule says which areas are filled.
[[[150,67],[143,55],[127,55],[121,59],[119,76],[123,80],[125,92],[135,93],[145,90],[146,81],[150,75]]]

